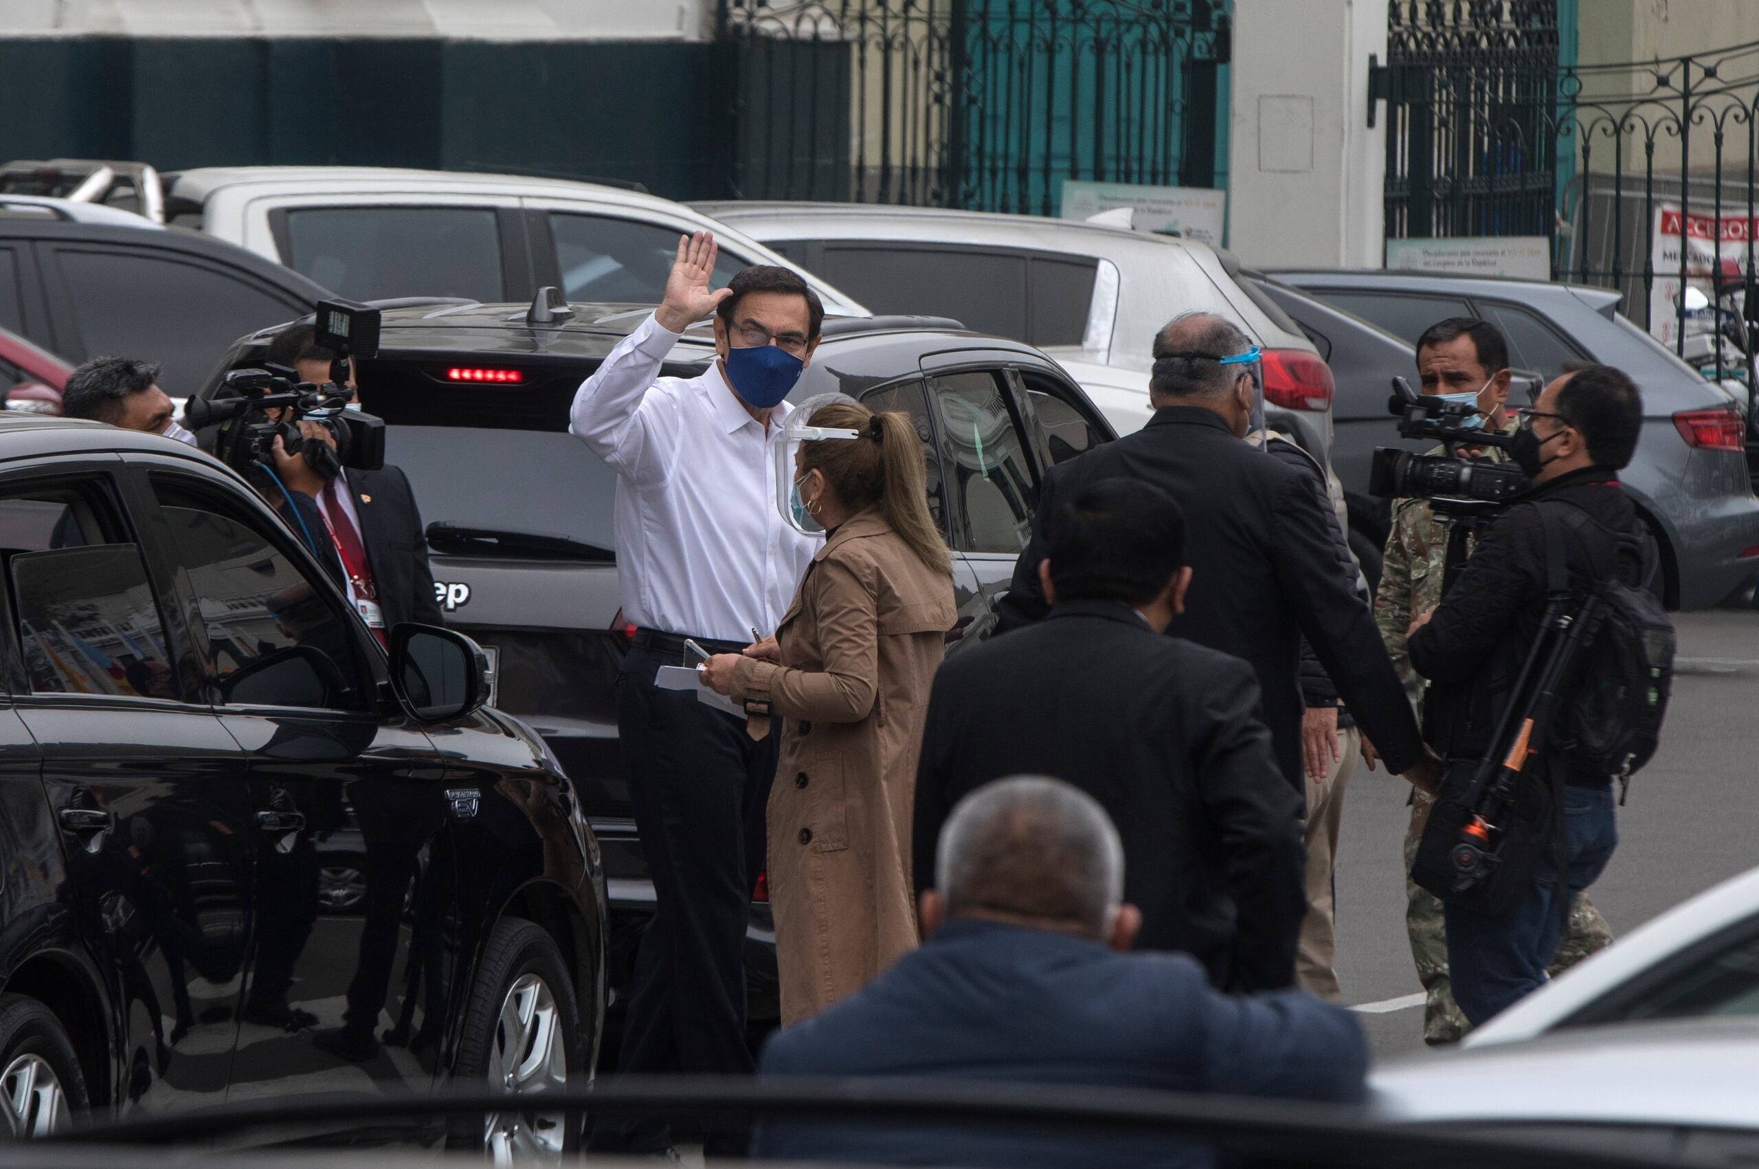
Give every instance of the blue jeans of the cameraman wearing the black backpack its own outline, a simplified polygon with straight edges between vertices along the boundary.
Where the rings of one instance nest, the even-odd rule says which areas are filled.
[[[1534,887],[1513,917],[1446,907],[1453,998],[1472,1026],[1544,986],[1569,907],[1606,870],[1618,847],[1609,787],[1566,785],[1562,792],[1562,871],[1550,856],[1539,861]]]

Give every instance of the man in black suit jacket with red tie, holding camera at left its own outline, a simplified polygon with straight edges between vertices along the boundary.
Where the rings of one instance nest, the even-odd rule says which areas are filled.
[[[292,368],[301,382],[331,380],[331,361],[334,354],[315,342],[317,329],[310,324],[296,324],[281,329],[269,343],[264,361]],[[348,380],[354,389],[354,359],[348,359]],[[303,423],[301,430],[308,438],[331,440],[329,433],[313,423]],[[415,493],[403,468],[385,465],[378,470],[343,468],[334,486],[324,482],[303,460],[278,460],[278,474],[294,491],[303,491],[317,500],[322,514],[320,526],[311,528],[311,537],[318,542],[318,558],[325,567],[339,570],[338,583],[348,590],[348,599],[357,600],[355,590],[343,569],[350,549],[354,528],[366,553],[366,567],[371,572],[375,600],[382,609],[383,630],[389,632],[401,621],[420,621],[424,625],[445,625],[440,600],[434,597],[434,576],[427,565],[427,535],[422,528],[422,514],[415,505]],[[301,509],[304,514],[306,509]],[[308,516],[310,518],[310,516]],[[322,523],[327,521],[327,523]],[[324,555],[325,532],[334,532],[334,556]]]

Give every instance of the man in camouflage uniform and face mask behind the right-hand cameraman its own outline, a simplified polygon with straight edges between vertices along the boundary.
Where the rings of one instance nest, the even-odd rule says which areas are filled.
[[[1507,431],[1513,415],[1509,398],[1509,347],[1497,326],[1478,317],[1449,317],[1437,320],[1418,338],[1418,379],[1425,396],[1444,396],[1467,401],[1485,412],[1485,428]],[[1435,447],[1430,454],[1442,454]],[[1465,447],[1462,458],[1481,458],[1492,463],[1507,460],[1502,447]],[[1448,553],[1448,528],[1435,518],[1428,500],[1393,500],[1393,528],[1386,539],[1381,563],[1381,586],[1374,597],[1374,620],[1381,627],[1386,651],[1393,657],[1398,674],[1421,709],[1428,701],[1423,678],[1411,669],[1405,653],[1405,636],[1411,621],[1441,602],[1442,572]],[[1365,752],[1367,754],[1367,752]],[[1411,824],[1405,831],[1405,935],[1411,940],[1411,959],[1425,989],[1423,1040],[1448,1044],[1467,1032],[1465,1016],[1448,986],[1448,935],[1442,924],[1441,900],[1411,879],[1423,826],[1428,822],[1435,798],[1423,790],[1411,794]],[[1569,930],[1558,947],[1553,974],[1581,961],[1588,954],[1611,945],[1613,931],[1587,896],[1576,898]]]

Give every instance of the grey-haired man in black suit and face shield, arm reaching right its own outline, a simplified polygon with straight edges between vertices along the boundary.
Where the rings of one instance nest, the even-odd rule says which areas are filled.
[[[1363,738],[1388,766],[1432,789],[1411,701],[1374,618],[1337,563],[1332,526],[1302,475],[1240,442],[1256,401],[1256,347],[1231,322],[1186,313],[1154,338],[1149,400],[1135,435],[1052,467],[1038,495],[1033,539],[1001,600],[1001,629],[1045,616],[1038,565],[1059,500],[1101,479],[1152,482],[1186,512],[1186,609],[1168,632],[1245,658],[1258,671],[1265,724],[1289,785],[1302,790],[1300,634],[1307,634]],[[1414,769],[1414,771],[1412,771]]]

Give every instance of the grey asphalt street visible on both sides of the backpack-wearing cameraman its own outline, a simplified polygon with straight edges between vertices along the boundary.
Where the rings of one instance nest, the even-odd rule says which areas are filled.
[[[1680,667],[1655,759],[1618,810],[1618,852],[1590,896],[1624,933],[1759,864],[1759,613],[1678,613]],[[1376,1058],[1423,1049],[1404,931],[1405,783],[1356,768],[1337,861],[1337,974]]]

